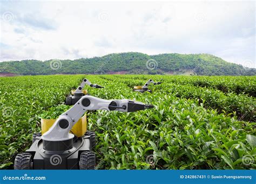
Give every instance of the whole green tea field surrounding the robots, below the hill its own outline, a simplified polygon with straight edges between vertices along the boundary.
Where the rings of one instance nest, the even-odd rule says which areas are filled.
[[[256,76],[49,75],[0,77],[0,167],[12,169],[40,118],[57,118],[65,97],[85,86],[105,99],[136,99],[154,109],[87,112],[96,132],[96,169],[256,169]],[[133,86],[147,80],[152,93]]]

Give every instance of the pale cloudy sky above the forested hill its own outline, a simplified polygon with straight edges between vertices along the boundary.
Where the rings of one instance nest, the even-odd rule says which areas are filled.
[[[208,53],[256,68],[255,1],[0,1],[0,61]]]

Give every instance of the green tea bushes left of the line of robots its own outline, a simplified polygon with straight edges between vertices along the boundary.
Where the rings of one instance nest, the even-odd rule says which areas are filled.
[[[40,131],[38,115],[63,103],[82,75],[18,76],[0,78],[0,162],[12,165],[15,155],[31,144],[33,132]]]

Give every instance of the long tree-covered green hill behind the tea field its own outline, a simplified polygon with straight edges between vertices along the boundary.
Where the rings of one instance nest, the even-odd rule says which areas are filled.
[[[256,75],[256,69],[226,62],[210,54],[147,55],[128,52],[77,60],[0,62],[0,73],[50,74],[187,74]]]

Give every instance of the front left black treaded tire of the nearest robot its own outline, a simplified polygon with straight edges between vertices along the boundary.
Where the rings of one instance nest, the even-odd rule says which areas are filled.
[[[15,170],[32,169],[32,154],[18,153],[14,161]]]

